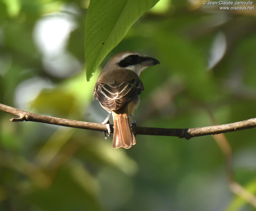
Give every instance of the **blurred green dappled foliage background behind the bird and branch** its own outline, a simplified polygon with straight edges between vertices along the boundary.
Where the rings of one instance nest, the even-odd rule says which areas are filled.
[[[256,116],[255,10],[160,0],[86,82],[88,5],[0,1],[0,103],[100,123],[107,112],[93,100],[95,81],[112,55],[136,50],[161,63],[141,74],[138,126],[204,127]],[[12,117],[0,113],[0,210],[253,210],[229,189],[219,136],[137,135],[131,149],[113,149],[112,137],[97,131]],[[256,129],[225,136],[235,180],[255,194]]]

